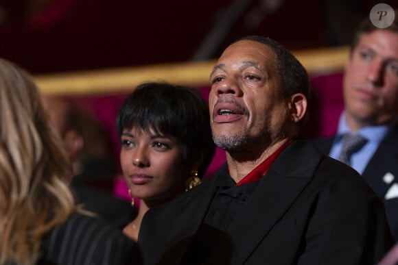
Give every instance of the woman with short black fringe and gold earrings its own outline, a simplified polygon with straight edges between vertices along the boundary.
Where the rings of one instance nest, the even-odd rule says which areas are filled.
[[[124,101],[116,127],[121,168],[139,199],[138,216],[124,233],[137,240],[148,209],[200,184],[215,152],[209,108],[194,88],[144,83]]]

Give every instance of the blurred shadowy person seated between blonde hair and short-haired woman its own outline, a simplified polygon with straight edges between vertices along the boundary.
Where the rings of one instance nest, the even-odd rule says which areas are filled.
[[[51,123],[60,134],[73,165],[70,185],[76,203],[122,229],[137,216],[137,211],[132,210],[129,201],[95,186],[105,183],[108,190],[112,190],[117,173],[116,159],[108,149],[109,138],[104,125],[64,97],[45,95],[44,99]]]

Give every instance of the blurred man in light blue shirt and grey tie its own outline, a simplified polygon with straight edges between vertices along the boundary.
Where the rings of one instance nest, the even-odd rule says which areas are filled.
[[[382,198],[398,240],[398,12],[389,27],[360,24],[344,67],[344,110],[337,132],[314,140],[349,164]],[[357,140],[358,144],[352,144]]]

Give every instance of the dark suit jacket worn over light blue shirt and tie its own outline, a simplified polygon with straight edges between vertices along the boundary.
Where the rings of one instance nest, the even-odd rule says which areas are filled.
[[[329,154],[334,137],[315,139],[314,144],[326,155]],[[391,182],[384,181],[386,174],[392,176]],[[391,129],[380,143],[368,162],[362,177],[380,198],[383,199],[391,232],[398,240],[398,126]],[[397,196],[389,198],[386,194],[396,190]]]

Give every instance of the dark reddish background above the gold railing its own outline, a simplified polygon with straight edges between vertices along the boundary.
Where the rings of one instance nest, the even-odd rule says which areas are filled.
[[[0,0],[0,57],[43,74],[207,60],[249,34],[289,49],[346,45],[376,3]]]

